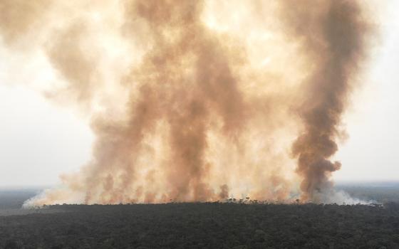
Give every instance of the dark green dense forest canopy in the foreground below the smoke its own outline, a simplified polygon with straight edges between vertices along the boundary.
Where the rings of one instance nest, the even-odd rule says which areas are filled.
[[[0,248],[399,248],[397,203],[59,205],[35,212],[0,216]]]

